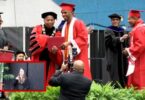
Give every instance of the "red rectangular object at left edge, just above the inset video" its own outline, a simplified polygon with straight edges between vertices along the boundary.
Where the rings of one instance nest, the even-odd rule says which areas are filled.
[[[12,61],[14,58],[14,51],[0,50],[0,61]]]

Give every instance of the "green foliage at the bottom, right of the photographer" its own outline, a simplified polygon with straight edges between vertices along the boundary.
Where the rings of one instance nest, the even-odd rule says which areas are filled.
[[[145,100],[145,90],[132,88],[114,89],[111,83],[106,85],[93,82],[86,100]]]

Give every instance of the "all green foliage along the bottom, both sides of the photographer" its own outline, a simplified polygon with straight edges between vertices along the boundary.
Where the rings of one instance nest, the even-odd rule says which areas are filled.
[[[48,87],[46,92],[11,93],[10,100],[57,100],[59,90],[59,87]],[[101,85],[93,82],[86,100],[145,100],[145,90],[114,89],[111,83]]]

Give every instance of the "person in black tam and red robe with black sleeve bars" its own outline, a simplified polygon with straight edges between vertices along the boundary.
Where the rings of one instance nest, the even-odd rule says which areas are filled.
[[[48,50],[47,40],[49,37],[56,36],[56,29],[54,27],[57,14],[54,12],[45,12],[42,14],[44,19],[43,25],[34,27],[30,36],[30,52],[32,61],[46,61],[46,75],[49,80],[55,72],[56,65],[61,66],[62,59],[59,57],[61,51],[56,51],[54,46],[52,50]],[[47,81],[48,82],[48,81]]]

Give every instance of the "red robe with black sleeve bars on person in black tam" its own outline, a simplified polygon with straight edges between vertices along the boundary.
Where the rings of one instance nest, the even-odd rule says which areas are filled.
[[[48,44],[47,38],[49,38],[48,35],[42,34],[42,25],[38,25],[32,30],[30,36],[30,49],[29,49],[30,52],[32,52],[31,54],[32,61],[39,61],[41,52],[47,47]],[[55,73],[56,70],[55,65],[58,65],[59,67],[61,66],[62,58],[61,56],[59,56],[61,55],[60,53],[61,51],[59,50],[57,51],[56,54],[49,52],[48,56],[51,59],[51,61],[49,62],[49,65],[46,65],[49,66],[48,75],[47,75],[48,79],[46,80],[47,83],[48,80],[51,78],[51,76]]]

